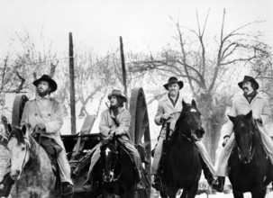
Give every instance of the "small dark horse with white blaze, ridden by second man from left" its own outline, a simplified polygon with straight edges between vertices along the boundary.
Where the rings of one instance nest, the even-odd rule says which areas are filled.
[[[103,197],[133,197],[134,195],[134,170],[132,160],[117,136],[102,141],[99,174],[99,184],[102,184]]]

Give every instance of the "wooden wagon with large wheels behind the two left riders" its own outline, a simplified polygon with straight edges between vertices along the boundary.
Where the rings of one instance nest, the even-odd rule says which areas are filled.
[[[14,126],[19,125],[23,107],[27,101],[28,98],[24,94],[15,97],[12,118]],[[132,115],[130,136],[141,154],[142,182],[146,186],[145,191],[136,192],[134,197],[148,198],[150,197],[150,127],[145,94],[142,88],[132,89],[129,111]],[[87,115],[82,129],[77,134],[61,135],[67,150],[71,177],[75,184],[74,197],[90,196],[82,189],[82,185],[86,181],[93,150],[100,141],[99,133],[90,134],[95,120],[94,115]]]

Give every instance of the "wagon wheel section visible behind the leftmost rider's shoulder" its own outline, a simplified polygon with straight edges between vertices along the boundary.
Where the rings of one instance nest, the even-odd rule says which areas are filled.
[[[20,121],[23,115],[23,107],[29,99],[25,94],[16,95],[14,98],[14,105],[13,105],[13,117],[12,117],[12,125],[13,126],[20,126]]]

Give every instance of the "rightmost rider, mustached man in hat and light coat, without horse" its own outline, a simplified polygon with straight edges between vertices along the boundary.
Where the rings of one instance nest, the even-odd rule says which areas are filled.
[[[264,127],[265,124],[271,122],[271,111],[268,100],[257,92],[259,89],[258,82],[252,76],[244,76],[243,80],[238,83],[243,94],[235,99],[232,110],[229,115],[236,117],[240,114],[247,114],[250,110],[253,113],[253,118],[258,122],[258,128],[261,135],[264,148],[268,152],[269,159],[273,163],[273,141],[268,136],[268,131]],[[217,180],[212,187],[219,192],[223,192],[225,176],[228,173],[228,159],[231,156],[232,148],[234,148],[235,137],[233,133],[233,123],[229,121],[228,129],[223,137],[223,151],[219,158],[217,168]]]

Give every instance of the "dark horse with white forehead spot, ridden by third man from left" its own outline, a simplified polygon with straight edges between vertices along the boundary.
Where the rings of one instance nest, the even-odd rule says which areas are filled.
[[[195,142],[203,132],[201,113],[192,103],[182,102],[183,109],[176,123],[176,129],[168,141],[166,166],[164,168],[161,197],[175,198],[178,189],[183,188],[180,197],[196,196],[201,175],[201,161]]]

